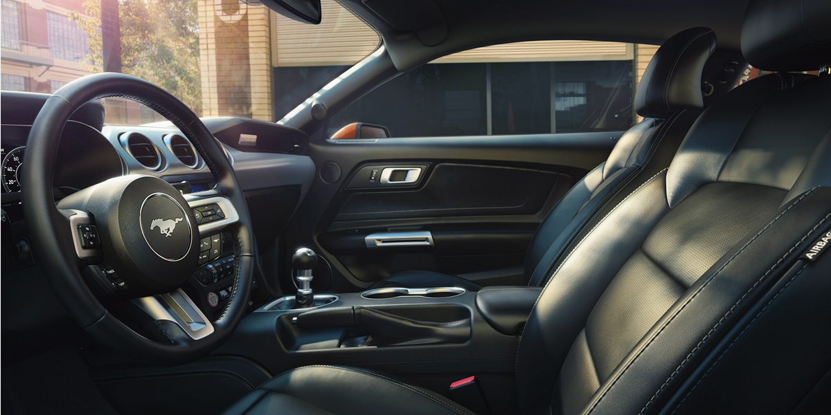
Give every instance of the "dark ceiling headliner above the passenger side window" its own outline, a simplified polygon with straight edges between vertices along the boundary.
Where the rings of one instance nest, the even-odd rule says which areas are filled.
[[[400,71],[509,41],[597,40],[660,44],[710,27],[739,50],[748,0],[340,0],[381,33]],[[323,16],[325,19],[326,17]]]

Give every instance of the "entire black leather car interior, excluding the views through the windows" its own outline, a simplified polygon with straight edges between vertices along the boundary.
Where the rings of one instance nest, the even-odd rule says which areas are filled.
[[[2,90],[4,413],[831,411],[831,2],[338,4],[380,46],[278,122],[114,71]],[[327,132],[573,39],[659,46],[631,126]]]

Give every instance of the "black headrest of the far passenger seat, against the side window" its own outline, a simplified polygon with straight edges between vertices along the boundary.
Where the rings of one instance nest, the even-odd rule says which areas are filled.
[[[693,27],[666,39],[637,87],[637,114],[666,118],[677,110],[703,107],[701,71],[713,51],[715,32],[706,27]]]

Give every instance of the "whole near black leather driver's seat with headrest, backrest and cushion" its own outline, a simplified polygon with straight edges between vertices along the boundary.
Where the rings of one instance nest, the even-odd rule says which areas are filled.
[[[829,65],[829,20],[831,2],[756,1],[743,51],[770,71]],[[827,412],[829,108],[831,76],[789,73],[712,104],[553,271],[519,344],[521,412]],[[231,413],[465,413],[344,370],[295,369]]]

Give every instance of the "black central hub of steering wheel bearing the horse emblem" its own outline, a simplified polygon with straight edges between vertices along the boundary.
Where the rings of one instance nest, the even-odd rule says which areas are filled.
[[[111,178],[58,205],[81,207],[96,219],[104,265],[130,294],[160,294],[187,281],[197,265],[199,229],[179,191],[152,176]]]

